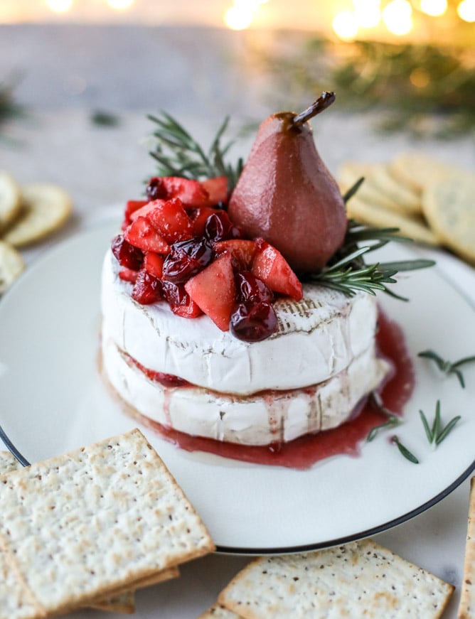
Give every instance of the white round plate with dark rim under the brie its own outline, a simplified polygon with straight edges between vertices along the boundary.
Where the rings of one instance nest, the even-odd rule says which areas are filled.
[[[124,415],[97,372],[100,268],[117,223],[102,224],[38,260],[0,302],[0,423],[30,461],[119,434],[137,425]],[[391,259],[414,257],[395,246]],[[390,433],[310,470],[251,465],[186,453],[143,429],[208,525],[220,551],[242,554],[326,547],[366,537],[417,515],[474,469],[475,367],[442,378],[417,352],[433,348],[456,360],[475,352],[475,313],[437,269],[406,274],[382,295],[402,325],[415,359],[417,386],[397,434],[420,458],[415,465]],[[436,449],[418,414],[462,419]]]

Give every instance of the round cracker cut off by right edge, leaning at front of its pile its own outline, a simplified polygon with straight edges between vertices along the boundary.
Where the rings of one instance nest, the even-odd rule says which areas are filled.
[[[475,176],[457,170],[422,194],[427,222],[442,244],[475,264]]]

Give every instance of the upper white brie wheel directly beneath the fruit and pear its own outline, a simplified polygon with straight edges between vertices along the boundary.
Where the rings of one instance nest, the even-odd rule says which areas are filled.
[[[102,270],[108,337],[149,370],[196,387],[240,396],[301,389],[341,375],[353,360],[373,350],[378,310],[375,297],[365,292],[348,297],[305,284],[301,301],[281,298],[274,303],[277,333],[248,343],[218,329],[208,316],[176,316],[166,301],[137,303],[132,284],[119,279],[119,269],[108,251]]]

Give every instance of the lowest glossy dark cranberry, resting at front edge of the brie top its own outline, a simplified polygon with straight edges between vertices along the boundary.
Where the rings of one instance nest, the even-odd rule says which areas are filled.
[[[260,342],[277,331],[277,316],[270,303],[240,303],[231,315],[230,330],[238,340]]]

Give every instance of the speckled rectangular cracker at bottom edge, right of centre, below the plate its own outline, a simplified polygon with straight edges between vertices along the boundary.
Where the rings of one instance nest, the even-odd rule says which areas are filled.
[[[245,619],[440,617],[454,587],[370,539],[346,546],[260,557],[218,603]]]

